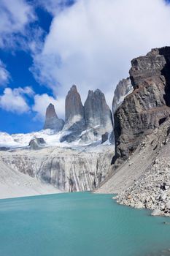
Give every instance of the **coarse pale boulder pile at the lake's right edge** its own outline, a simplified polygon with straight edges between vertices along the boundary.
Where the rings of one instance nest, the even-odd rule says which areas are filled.
[[[117,203],[134,208],[149,208],[153,216],[170,217],[169,168],[166,158],[156,159],[149,172],[145,172],[124,193],[117,195]]]

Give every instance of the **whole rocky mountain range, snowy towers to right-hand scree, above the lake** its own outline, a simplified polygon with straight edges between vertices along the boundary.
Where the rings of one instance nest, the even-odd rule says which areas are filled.
[[[42,131],[1,132],[0,161],[7,172],[60,192],[117,193],[118,203],[169,216],[169,116],[170,47],[154,48],[131,61],[112,111],[99,89],[88,91],[82,105],[74,85],[66,95],[65,121],[50,104]]]

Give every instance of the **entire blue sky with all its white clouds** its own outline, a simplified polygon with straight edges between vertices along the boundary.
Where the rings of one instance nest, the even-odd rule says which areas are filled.
[[[0,131],[42,129],[52,102],[64,118],[72,84],[101,89],[111,108],[131,59],[170,45],[165,0],[1,0]]]

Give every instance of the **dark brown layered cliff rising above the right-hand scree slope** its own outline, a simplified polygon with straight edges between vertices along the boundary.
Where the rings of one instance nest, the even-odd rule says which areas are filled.
[[[169,117],[170,48],[153,49],[133,59],[130,78],[134,91],[115,112],[113,163],[128,159],[144,137]]]

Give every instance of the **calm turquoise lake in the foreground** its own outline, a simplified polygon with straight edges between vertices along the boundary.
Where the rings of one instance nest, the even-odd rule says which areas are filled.
[[[0,256],[170,255],[163,222],[90,192],[0,200]]]

